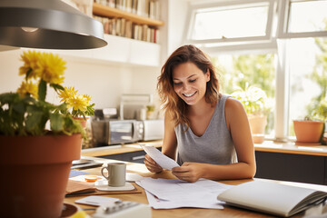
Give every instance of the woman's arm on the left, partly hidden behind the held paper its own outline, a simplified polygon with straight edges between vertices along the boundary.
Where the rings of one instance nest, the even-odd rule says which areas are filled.
[[[168,115],[164,115],[164,133],[163,133],[163,147],[162,153],[168,157],[175,159],[177,147],[176,134],[174,133],[174,123],[172,118]],[[145,155],[144,160],[146,168],[152,173],[160,173],[163,168],[155,163],[155,161],[148,155]]]

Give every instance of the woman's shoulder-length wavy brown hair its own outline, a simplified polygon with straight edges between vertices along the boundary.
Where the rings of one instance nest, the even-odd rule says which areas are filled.
[[[209,57],[194,45],[183,45],[171,54],[158,77],[157,90],[163,104],[165,113],[169,113],[175,125],[186,124],[190,121],[186,117],[187,104],[173,90],[173,69],[179,64],[191,62],[195,64],[203,74],[210,72],[210,81],[206,84],[204,94],[205,101],[214,107],[219,100],[219,82],[213,64]]]

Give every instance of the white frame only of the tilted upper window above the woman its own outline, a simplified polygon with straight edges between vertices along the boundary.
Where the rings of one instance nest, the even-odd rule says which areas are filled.
[[[268,3],[268,17],[267,17],[267,25],[264,36],[249,36],[249,37],[235,37],[235,38],[217,38],[217,39],[204,39],[204,40],[193,40],[191,39],[192,30],[194,26],[194,17],[198,12],[208,10],[210,8],[233,8],[235,6],[242,5],[243,7],[249,7],[251,5],[260,5],[263,3]],[[186,33],[184,35],[184,43],[185,44],[195,44],[195,45],[210,45],[217,43],[235,43],[235,42],[255,42],[260,41],[260,43],[271,43],[272,42],[272,20],[275,9],[275,0],[243,0],[243,1],[226,1],[226,2],[215,2],[215,3],[206,3],[206,4],[192,4],[189,7],[189,15],[191,17],[189,20],[189,24],[187,24],[188,28],[186,28]]]

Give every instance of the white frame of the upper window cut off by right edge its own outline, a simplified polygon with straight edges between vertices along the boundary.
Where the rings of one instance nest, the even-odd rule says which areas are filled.
[[[311,2],[317,0],[293,0],[293,2]],[[303,37],[326,37],[327,31],[313,31],[313,32],[301,32],[301,33],[289,33],[289,16],[291,0],[280,0],[279,3],[281,9],[278,15],[278,29],[277,38],[303,38]]]

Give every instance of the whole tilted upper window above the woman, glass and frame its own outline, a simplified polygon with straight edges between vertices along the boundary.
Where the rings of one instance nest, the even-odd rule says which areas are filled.
[[[187,40],[194,44],[269,40],[273,3],[266,0],[194,5]]]

